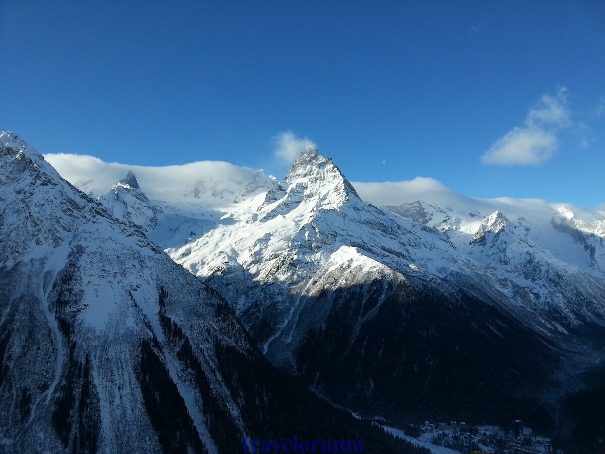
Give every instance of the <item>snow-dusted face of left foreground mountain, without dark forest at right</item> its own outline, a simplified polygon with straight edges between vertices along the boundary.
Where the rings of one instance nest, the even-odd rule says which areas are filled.
[[[0,140],[5,446],[159,452],[146,392],[151,381],[168,378],[189,398],[192,419],[177,415],[183,443],[199,435],[214,449],[160,314],[197,334],[196,349],[212,352],[217,337],[245,349],[243,332],[225,336],[215,315],[220,299],[182,275],[142,231],[60,179],[19,137],[2,133]],[[183,288],[189,293],[181,296]],[[185,318],[183,310],[200,317]],[[145,372],[151,364],[165,369],[152,378]]]

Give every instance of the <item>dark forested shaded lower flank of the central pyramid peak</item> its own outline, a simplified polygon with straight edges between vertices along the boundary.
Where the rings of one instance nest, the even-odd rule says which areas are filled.
[[[556,384],[549,377],[561,364],[544,338],[465,292],[448,296],[420,283],[399,283],[353,333],[345,320],[375,303],[376,296],[360,297],[364,291],[338,292],[325,326],[296,350],[307,383],[395,421],[505,426],[523,416],[536,428],[548,425],[547,391]],[[347,379],[335,386],[338,377]]]

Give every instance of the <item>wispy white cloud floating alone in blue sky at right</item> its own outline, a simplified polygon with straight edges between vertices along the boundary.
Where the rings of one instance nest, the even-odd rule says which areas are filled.
[[[485,165],[540,165],[554,156],[557,132],[569,127],[567,90],[556,96],[545,94],[537,107],[529,110],[525,125],[514,127],[500,137],[481,157]]]

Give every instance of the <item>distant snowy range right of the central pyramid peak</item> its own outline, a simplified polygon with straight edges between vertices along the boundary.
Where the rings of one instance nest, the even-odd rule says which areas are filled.
[[[385,209],[442,232],[516,306],[535,305],[558,328],[603,324],[605,247],[589,230],[598,231],[599,222],[574,223],[568,209],[535,205],[541,209],[529,220],[515,207],[512,219],[498,210],[461,212],[424,202]]]

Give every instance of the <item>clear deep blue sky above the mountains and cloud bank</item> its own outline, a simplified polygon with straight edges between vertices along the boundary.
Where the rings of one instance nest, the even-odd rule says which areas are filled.
[[[282,177],[275,148],[307,138],[350,180],[605,203],[605,2],[4,0],[0,15],[0,129],[41,153]]]

